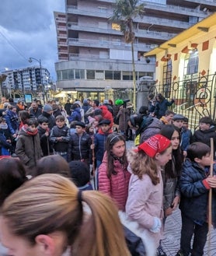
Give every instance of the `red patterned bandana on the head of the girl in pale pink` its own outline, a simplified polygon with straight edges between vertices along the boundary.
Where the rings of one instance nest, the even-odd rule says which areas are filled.
[[[154,157],[156,153],[162,153],[169,148],[171,142],[163,135],[153,135],[141,145],[138,146],[138,151],[144,151],[148,156]]]

